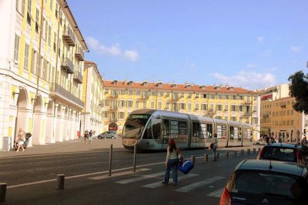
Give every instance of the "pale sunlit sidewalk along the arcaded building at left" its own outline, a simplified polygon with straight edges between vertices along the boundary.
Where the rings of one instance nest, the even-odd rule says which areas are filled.
[[[122,149],[122,138],[112,139],[98,139],[94,138],[91,144],[85,144],[83,138],[64,141],[61,143],[51,143],[46,145],[34,145],[33,147],[27,147],[25,152],[15,152],[10,150],[9,152],[0,152],[0,159],[3,157],[14,156],[36,156],[44,154],[61,154],[71,152],[98,152],[110,150],[112,144],[113,149]]]

